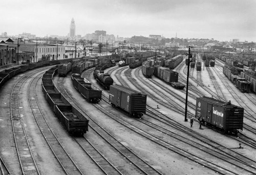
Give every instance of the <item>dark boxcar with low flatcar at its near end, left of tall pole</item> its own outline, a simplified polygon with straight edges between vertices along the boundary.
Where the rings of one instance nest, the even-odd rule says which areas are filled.
[[[159,65],[154,66],[154,76],[163,80],[164,82],[170,84],[177,89],[184,89],[185,85],[178,82],[179,73],[174,70],[169,70],[167,68],[161,67]]]

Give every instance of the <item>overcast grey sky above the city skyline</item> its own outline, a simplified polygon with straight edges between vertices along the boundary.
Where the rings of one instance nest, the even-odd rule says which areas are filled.
[[[256,42],[256,0],[7,0],[0,33],[67,36],[96,30],[119,37],[214,38]]]

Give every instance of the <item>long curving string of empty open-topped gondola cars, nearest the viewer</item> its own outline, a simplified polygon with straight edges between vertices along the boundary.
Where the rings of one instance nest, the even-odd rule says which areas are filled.
[[[54,86],[52,78],[56,72],[57,69],[51,68],[42,77],[42,90],[46,100],[65,129],[72,135],[82,136],[88,131],[89,120],[72,106]]]

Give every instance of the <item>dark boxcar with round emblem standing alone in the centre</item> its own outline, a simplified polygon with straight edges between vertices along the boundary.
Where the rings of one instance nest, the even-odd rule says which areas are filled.
[[[121,85],[110,86],[109,102],[134,117],[146,113],[146,94]]]

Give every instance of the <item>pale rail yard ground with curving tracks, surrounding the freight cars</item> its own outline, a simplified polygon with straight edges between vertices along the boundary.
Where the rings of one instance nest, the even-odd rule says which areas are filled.
[[[205,67],[199,55],[196,60],[202,68],[190,67],[187,122],[186,88],[176,89],[155,76],[148,79],[141,66],[104,70],[114,84],[147,95],[146,113],[140,118],[111,106],[109,90],[94,78],[94,67],[81,77],[102,91],[98,103],[79,93],[71,73],[54,76],[59,92],[89,119],[89,131],[82,137],[69,134],[47,103],[42,76],[53,65],[17,74],[0,89],[1,169],[11,174],[255,174],[256,94],[234,86],[223,73],[223,61]],[[185,59],[173,70],[185,85]],[[195,108],[202,96],[243,107],[243,131],[234,136],[204,125],[199,129]]]

